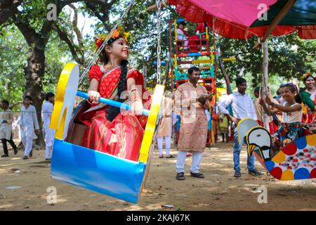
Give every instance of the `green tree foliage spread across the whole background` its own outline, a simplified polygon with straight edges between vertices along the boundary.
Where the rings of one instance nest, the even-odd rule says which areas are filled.
[[[70,18],[69,11],[61,11],[58,20],[51,26],[49,32],[43,33],[46,27],[46,6],[56,1],[48,0],[25,0],[20,4],[19,15],[8,19],[1,28],[1,95],[11,96],[13,101],[20,101],[19,98],[25,91],[25,77],[23,68],[27,65],[27,55],[29,47],[32,47],[34,41],[25,41],[27,37],[18,31],[13,25],[23,23],[29,25],[39,37],[46,37],[47,44],[43,45],[45,51],[45,68],[42,77],[42,89],[44,91],[54,91],[58,82],[60,72],[67,61],[76,61],[82,69],[91,60],[91,48],[93,46],[96,34],[109,32],[117,23],[118,18],[124,13],[128,6],[128,0],[123,1],[58,1],[74,3],[71,11],[77,11],[89,17],[98,19],[95,32],[80,36],[78,25],[74,19]],[[157,11],[147,11],[147,7],[154,4],[155,1],[137,0],[132,6],[131,11],[122,21],[122,25],[133,34],[133,42],[130,44],[131,58],[130,63],[141,70],[143,65],[147,66],[147,83],[153,87],[156,84],[157,66],[153,65],[157,61]],[[60,7],[63,7],[61,4]],[[78,15],[80,16],[80,15]],[[162,60],[170,60],[169,56],[169,32],[168,21],[177,18],[176,11],[173,8],[164,8],[162,11]],[[179,17],[178,17],[179,18]],[[193,35],[196,24],[187,23],[188,33]],[[211,34],[211,32],[210,32]],[[213,36],[210,35],[212,38]],[[7,41],[9,40],[9,41]],[[11,41],[18,43],[18,47],[13,47]],[[253,49],[258,39],[250,38],[248,41],[225,39],[216,37],[216,45],[220,46],[223,58],[235,57],[235,62],[225,62],[225,69],[230,75],[232,84],[233,79],[244,68],[244,76],[249,80],[251,86],[257,86],[261,83],[262,77],[262,51]],[[269,39],[269,76],[270,82],[274,85],[277,82],[290,80],[294,77],[300,77],[305,70],[315,71],[315,40],[301,40],[296,34],[290,34],[284,37]],[[212,43],[212,41],[211,41]],[[8,51],[2,51],[5,48]],[[90,53],[90,54],[89,54]],[[8,79],[15,71],[12,79]],[[162,68],[162,79],[164,79],[165,69]],[[4,79],[2,79],[4,78]],[[219,81],[222,78],[218,70]],[[15,80],[16,79],[16,80]],[[15,80],[15,82],[8,82]],[[11,84],[14,83],[14,84]],[[223,83],[223,82],[222,82]],[[10,84],[10,85],[8,85]],[[88,79],[85,79],[82,89],[86,89]],[[223,83],[224,84],[224,83]],[[17,97],[15,97],[17,96]]]

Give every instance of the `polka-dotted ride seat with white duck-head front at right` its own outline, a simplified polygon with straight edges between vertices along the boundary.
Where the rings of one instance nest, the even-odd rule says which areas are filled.
[[[279,180],[316,178],[316,134],[301,136],[273,153],[270,132],[249,118],[238,123],[239,142],[246,137],[249,155],[254,154],[268,172]]]

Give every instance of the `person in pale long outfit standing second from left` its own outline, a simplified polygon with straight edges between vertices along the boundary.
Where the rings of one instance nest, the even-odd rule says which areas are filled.
[[[25,147],[23,160],[32,157],[32,144],[33,139],[37,139],[34,132],[36,129],[39,131],[39,122],[37,120],[37,110],[34,105],[31,105],[32,97],[25,96],[21,107],[20,128],[21,128],[21,141]],[[34,129],[35,126],[35,129]]]

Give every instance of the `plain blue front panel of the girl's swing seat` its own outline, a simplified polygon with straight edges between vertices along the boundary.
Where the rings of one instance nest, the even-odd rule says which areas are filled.
[[[109,166],[110,165],[110,166]],[[53,179],[131,203],[138,202],[146,164],[55,139]]]

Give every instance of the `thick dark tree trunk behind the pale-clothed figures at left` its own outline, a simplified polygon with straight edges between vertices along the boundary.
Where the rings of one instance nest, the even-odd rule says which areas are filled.
[[[25,68],[25,95],[32,96],[32,103],[37,110],[39,120],[38,139],[35,143],[41,148],[45,147],[41,123],[41,106],[45,98],[42,79],[45,72],[45,44],[40,40],[29,49],[27,67]]]

